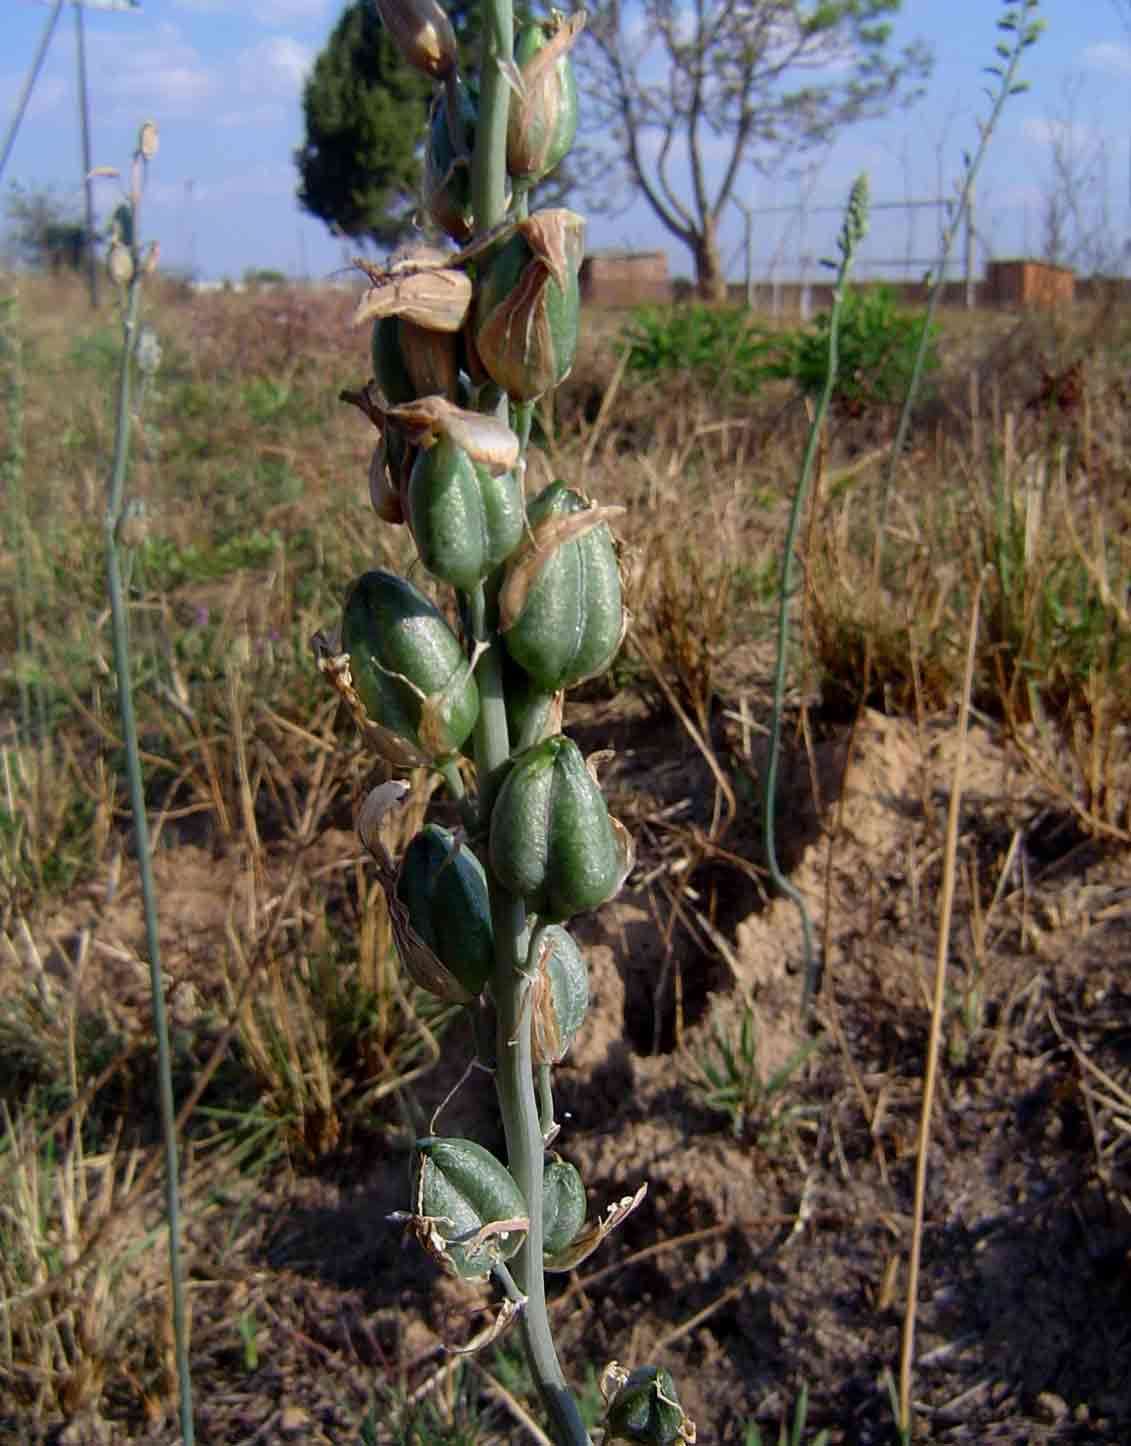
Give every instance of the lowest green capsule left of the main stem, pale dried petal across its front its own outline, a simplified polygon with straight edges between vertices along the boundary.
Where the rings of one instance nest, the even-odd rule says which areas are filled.
[[[417,1141],[414,1226],[464,1280],[486,1275],[522,1246],[529,1213],[509,1170],[474,1139]]]

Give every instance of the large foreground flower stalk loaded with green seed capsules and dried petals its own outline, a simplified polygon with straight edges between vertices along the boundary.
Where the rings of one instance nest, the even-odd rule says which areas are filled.
[[[447,1270],[498,1283],[498,1316],[473,1345],[516,1320],[555,1439],[581,1443],[545,1272],[574,1268],[644,1197],[587,1219],[579,1171],[550,1150],[552,1070],[589,1004],[568,921],[632,868],[597,759],[561,732],[564,691],[603,672],[625,632],[618,509],[563,480],[525,495],[534,408],[573,364],[584,249],[583,218],[529,214],[528,192],[574,139],[570,51],[584,16],[516,25],[511,0],[483,0],[482,68],[469,77],[435,0],[377,9],[435,81],[424,210],[457,249],[359,263],[373,376],[343,398],[377,429],[377,516],[408,528],[421,567],[454,597],[437,604],[404,577],[366,573],[314,648],[390,768],[435,769],[461,810],[458,830],[427,824],[399,859],[380,823],[408,784],[383,784],[359,816],[404,967],[471,1011],[506,1138],[505,1163],[474,1139],[417,1141],[402,1219]],[[612,1365],[605,1391],[606,1440],[694,1439],[665,1371]]]

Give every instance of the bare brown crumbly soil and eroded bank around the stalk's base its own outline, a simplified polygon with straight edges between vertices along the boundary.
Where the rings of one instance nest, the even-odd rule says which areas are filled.
[[[765,745],[741,701],[719,706],[712,737],[733,817],[668,714],[623,697],[571,714],[587,750],[616,749],[603,781],[638,865],[615,902],[577,921],[593,1009],[557,1076],[557,1148],[580,1167],[592,1209],[642,1181],[648,1194],[599,1255],[552,1278],[554,1320],[576,1381],[612,1359],[668,1365],[700,1442],[741,1442],[755,1420],[777,1437],[803,1384],[811,1433],[891,1442],[885,1372],[898,1372],[905,1306],[955,722],[868,713],[849,730],[813,719],[810,746],[793,740],[780,849],[823,956],[803,1028],[798,912],[765,891],[754,801]],[[1127,853],[1088,839],[991,724],[972,727],[960,779],[916,1439],[1127,1442],[1131,1150],[1119,1141],[1131,1119],[1096,1073],[1127,1087]],[[330,830],[318,853],[331,866],[357,847]],[[191,1032],[240,875],[185,843],[159,860],[174,1018]],[[116,950],[98,953],[85,988],[140,1008],[129,878],[100,934]],[[762,1080],[820,1043],[736,1132],[704,1103],[693,1061],[713,1035],[736,1035],[745,1004]],[[458,1034],[445,1050],[422,1082],[425,1113],[463,1067]],[[492,1144],[490,1118],[490,1084],[473,1076],[443,1128]],[[487,1297],[443,1278],[389,1223],[406,1205],[405,1144],[390,1128],[194,1213],[198,1440],[354,1442],[375,1401],[377,1417],[390,1410],[389,1391],[451,1400],[444,1343],[482,1325]],[[255,1320],[253,1355],[240,1319]],[[159,1406],[148,1421],[142,1407],[119,1381],[101,1423],[43,1436],[0,1406],[0,1434],[178,1439]],[[489,1420],[480,1440],[531,1439],[506,1407]]]

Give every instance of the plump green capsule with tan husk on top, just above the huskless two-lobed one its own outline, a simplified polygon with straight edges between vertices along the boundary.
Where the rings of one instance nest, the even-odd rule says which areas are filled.
[[[592,512],[564,482],[528,508],[526,545],[502,597],[506,651],[547,693],[605,672],[625,635],[620,564],[607,522],[568,535]],[[564,538],[564,541],[558,541]]]

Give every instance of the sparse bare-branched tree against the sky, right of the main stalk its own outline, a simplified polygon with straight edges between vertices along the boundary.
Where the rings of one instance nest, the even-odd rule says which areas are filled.
[[[597,133],[691,250],[699,292],[726,295],[719,218],[748,165],[781,165],[908,98],[923,45],[891,55],[901,0],[592,0],[579,46]]]

